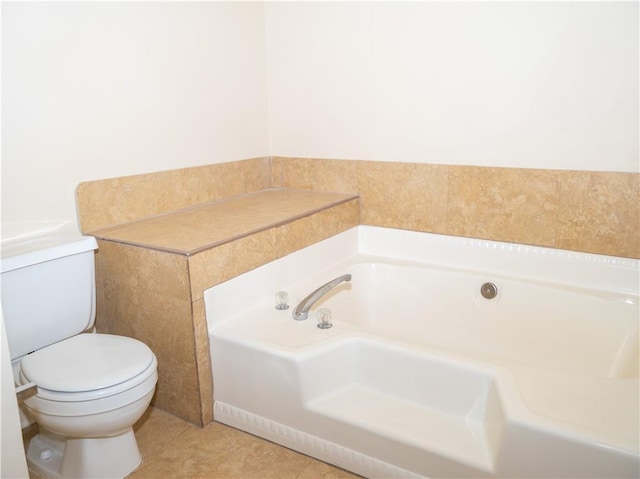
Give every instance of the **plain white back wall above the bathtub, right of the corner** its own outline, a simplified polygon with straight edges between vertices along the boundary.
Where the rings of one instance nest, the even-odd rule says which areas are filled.
[[[638,3],[267,3],[271,153],[639,171]]]

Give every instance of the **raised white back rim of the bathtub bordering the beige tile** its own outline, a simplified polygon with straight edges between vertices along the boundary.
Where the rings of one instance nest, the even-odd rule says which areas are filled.
[[[408,242],[412,246],[410,249],[398,246],[401,242],[402,244]],[[429,248],[424,245],[416,246],[416,243],[420,242],[426,242]],[[470,252],[461,254],[461,250],[469,247],[472,248]],[[451,248],[448,253],[446,252],[447,248]],[[243,294],[237,299],[230,296],[224,297],[224,294],[215,294],[214,291],[233,288],[241,281],[255,278],[258,272],[265,272],[269,268],[273,268],[275,264],[285,263],[284,272],[276,274],[275,278],[265,273],[266,280],[273,283],[271,293],[275,294],[276,291],[285,289],[291,284],[291,280],[286,277],[286,272],[295,273],[297,268],[294,265],[301,259],[309,262],[306,270],[313,272],[313,274],[327,269],[324,259],[309,260],[314,251],[318,252],[318,258],[336,258],[331,261],[331,265],[349,264],[351,258],[358,255],[372,259],[393,259],[394,261],[407,262],[407,264],[433,268],[470,273],[478,271],[487,277],[517,278],[518,281],[572,289],[585,294],[625,297],[627,302],[631,304],[640,304],[640,260],[518,243],[359,225],[205,290],[203,298],[209,332],[216,324],[225,321],[220,318],[229,318],[239,314],[248,308],[247,304],[251,301],[262,301],[265,297],[263,287],[265,281],[262,279],[253,280],[250,287],[243,288]],[[416,252],[419,253],[417,258],[410,257]],[[483,254],[470,258],[470,254],[473,252]],[[494,260],[496,256],[501,255],[507,256],[500,261]],[[548,277],[547,263],[549,261],[556,261],[559,264],[559,267],[554,271],[554,273],[558,273],[554,280]],[[572,270],[574,266],[578,266],[576,271]],[[525,267],[530,268],[532,272],[528,275],[518,274]],[[597,279],[590,280],[589,277]],[[559,278],[562,278],[562,281]],[[308,285],[308,287],[311,286],[319,286],[319,284]],[[300,299],[302,298],[292,297],[290,302],[293,305],[295,301]]]

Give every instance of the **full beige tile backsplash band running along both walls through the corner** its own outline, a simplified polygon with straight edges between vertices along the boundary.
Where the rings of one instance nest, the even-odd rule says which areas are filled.
[[[85,232],[283,187],[359,193],[364,224],[639,258],[639,185],[637,173],[274,157],[90,181],[76,194]]]

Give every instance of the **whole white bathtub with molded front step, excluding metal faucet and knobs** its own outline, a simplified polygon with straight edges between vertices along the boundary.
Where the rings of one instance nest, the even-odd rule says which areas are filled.
[[[205,292],[215,418],[366,477],[637,478],[638,266],[354,228]]]

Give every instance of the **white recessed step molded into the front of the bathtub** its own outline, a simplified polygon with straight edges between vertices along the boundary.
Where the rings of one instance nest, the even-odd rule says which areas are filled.
[[[494,466],[504,415],[486,372],[362,339],[307,357],[299,371],[302,401],[320,416],[480,469]]]

